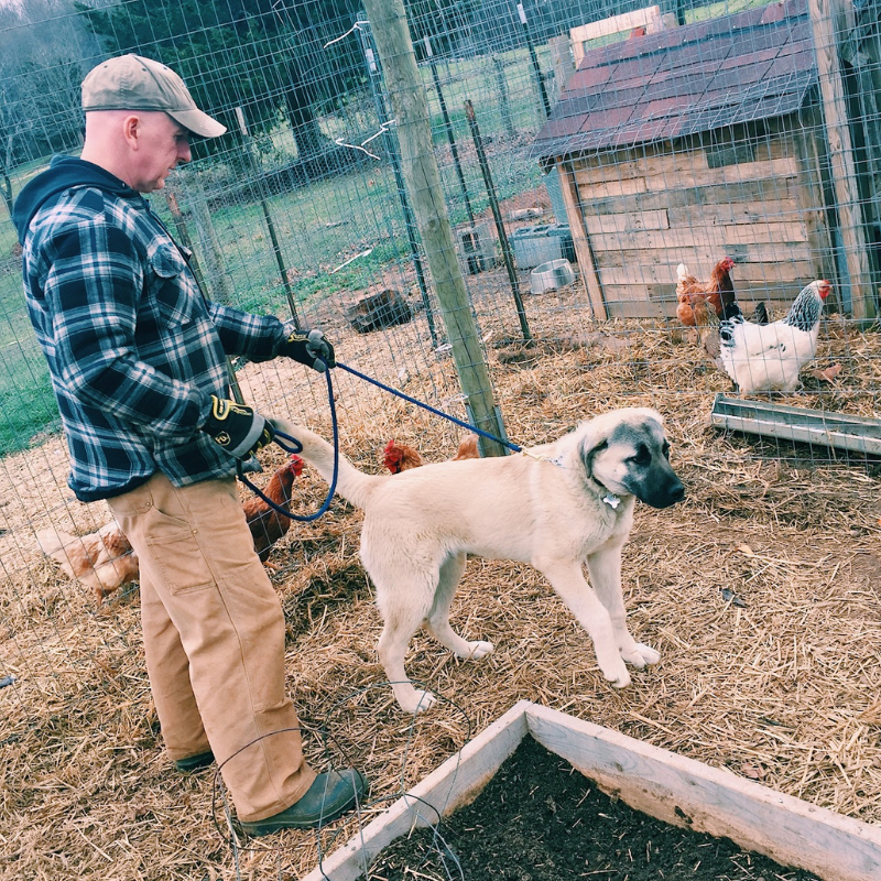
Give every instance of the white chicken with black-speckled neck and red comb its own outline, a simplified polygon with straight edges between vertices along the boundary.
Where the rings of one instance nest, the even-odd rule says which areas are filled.
[[[816,354],[823,301],[830,291],[825,280],[811,282],[780,322],[758,325],[737,316],[719,324],[719,361],[741,392],[795,390],[802,368]]]

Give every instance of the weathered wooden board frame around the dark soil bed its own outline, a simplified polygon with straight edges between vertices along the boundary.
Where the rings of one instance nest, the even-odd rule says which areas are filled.
[[[531,735],[607,793],[676,826],[730,838],[824,881],[878,881],[881,828],[641,740],[521,700],[399,798],[304,881],[355,881],[414,826],[472,802]]]

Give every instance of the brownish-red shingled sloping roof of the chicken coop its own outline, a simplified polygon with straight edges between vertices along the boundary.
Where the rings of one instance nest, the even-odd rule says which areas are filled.
[[[792,113],[816,78],[806,0],[633,37],[585,55],[531,152],[613,150]]]

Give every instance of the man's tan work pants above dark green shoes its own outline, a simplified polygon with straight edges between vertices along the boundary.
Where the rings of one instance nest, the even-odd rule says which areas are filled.
[[[146,670],[170,755],[210,748],[229,759],[221,773],[242,820],[284,811],[315,772],[285,694],[281,605],[236,481],[176,488],[156,474],[108,503],[140,559]]]

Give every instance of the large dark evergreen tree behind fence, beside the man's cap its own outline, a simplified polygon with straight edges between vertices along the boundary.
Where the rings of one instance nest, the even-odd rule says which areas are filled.
[[[230,130],[203,149],[235,141],[235,108],[246,109],[253,133],[270,131],[284,113],[301,161],[328,149],[315,112],[363,74],[351,41],[328,43],[350,26],[357,0],[133,0],[97,8],[78,2],[109,54],[137,52],[177,70],[196,102]],[[319,24],[313,23],[313,21]]]

